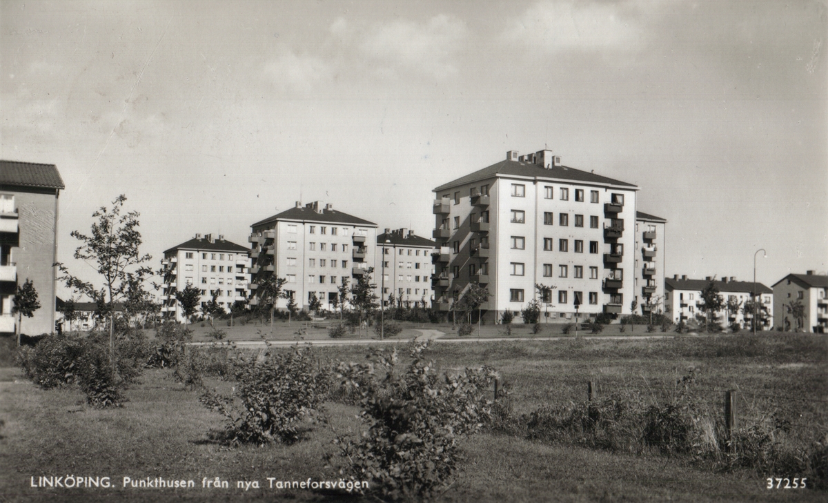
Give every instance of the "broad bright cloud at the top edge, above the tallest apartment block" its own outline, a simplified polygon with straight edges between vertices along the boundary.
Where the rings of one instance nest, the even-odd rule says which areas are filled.
[[[538,2],[508,23],[503,40],[550,52],[624,50],[643,41],[632,13],[623,3]]]

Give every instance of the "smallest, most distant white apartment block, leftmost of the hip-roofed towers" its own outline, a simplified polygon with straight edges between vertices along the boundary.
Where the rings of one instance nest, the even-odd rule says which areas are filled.
[[[194,285],[201,290],[201,304],[216,301],[226,310],[249,295],[249,250],[219,234],[195,234],[190,241],[171,247],[161,260],[161,315],[184,321],[176,291]]]

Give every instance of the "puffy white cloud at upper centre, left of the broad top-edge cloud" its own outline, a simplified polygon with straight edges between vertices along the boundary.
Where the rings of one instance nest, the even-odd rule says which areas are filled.
[[[464,22],[440,14],[428,22],[394,21],[374,26],[365,34],[359,49],[383,64],[380,70],[386,73],[402,70],[444,79],[457,71],[453,55],[466,34]]]

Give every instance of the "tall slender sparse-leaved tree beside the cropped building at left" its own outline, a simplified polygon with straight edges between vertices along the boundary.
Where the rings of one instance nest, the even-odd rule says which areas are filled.
[[[75,249],[75,259],[85,261],[103,280],[103,288],[98,290],[92,283],[71,275],[64,264],[55,263],[61,273],[60,280],[65,281],[67,288],[78,291],[90,299],[102,301],[108,306],[109,314],[109,364],[115,369],[115,302],[124,301],[128,297],[137,297],[135,290],[142,290],[143,283],[152,275],[152,268],[142,266],[152,260],[149,254],[141,255],[141,232],[138,232],[138,217],[141,213],[131,211],[123,213],[123,204],[126,196],[119,195],[111,208],[100,207],[92,213],[98,218],[92,224],[89,236],[72,231],[70,236],[75,237],[82,244]]]

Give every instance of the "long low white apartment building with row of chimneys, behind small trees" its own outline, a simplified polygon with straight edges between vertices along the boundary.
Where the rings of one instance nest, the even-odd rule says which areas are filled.
[[[695,319],[696,314],[704,315],[701,309],[701,305],[704,304],[701,292],[707,288],[710,280],[713,280],[711,276],[707,276],[704,280],[688,280],[686,275],[681,277],[673,275],[672,278],[664,280],[665,314],[675,323]],[[753,314],[744,313],[744,305],[753,299],[755,291],[758,299],[757,316],[759,319],[756,329],[770,330],[773,328],[773,290],[762,283],[737,281],[735,276],[722,276],[721,280],[713,282],[719,289],[719,295],[722,296],[724,304],[731,306],[729,309],[725,305],[724,309],[715,313],[716,320],[723,326],[739,323],[741,328],[751,327],[750,320],[753,319]]]

